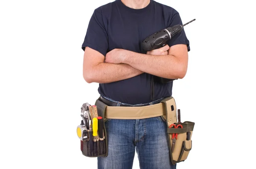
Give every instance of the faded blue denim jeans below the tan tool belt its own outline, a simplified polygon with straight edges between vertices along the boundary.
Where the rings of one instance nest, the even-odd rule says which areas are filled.
[[[98,169],[132,169],[135,150],[141,169],[176,169],[170,162],[166,122],[160,117],[105,122],[108,157],[98,158]]]

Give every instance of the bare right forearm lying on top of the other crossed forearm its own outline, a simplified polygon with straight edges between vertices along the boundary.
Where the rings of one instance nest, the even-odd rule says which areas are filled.
[[[148,55],[127,51],[124,63],[143,72],[168,79],[181,79],[186,64],[172,55]]]

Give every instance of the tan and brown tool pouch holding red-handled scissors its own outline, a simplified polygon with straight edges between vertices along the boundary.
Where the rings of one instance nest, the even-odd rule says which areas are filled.
[[[163,102],[166,106],[166,115],[163,115],[162,118],[166,120],[167,124],[167,135],[169,140],[168,146],[172,164],[185,161],[189,155],[190,150],[192,149],[191,137],[195,123],[190,121],[177,123],[176,103],[173,97],[166,98],[161,102]],[[172,124],[181,124],[182,128],[169,128]],[[175,144],[173,144],[172,136],[176,133],[177,139],[174,139]]]

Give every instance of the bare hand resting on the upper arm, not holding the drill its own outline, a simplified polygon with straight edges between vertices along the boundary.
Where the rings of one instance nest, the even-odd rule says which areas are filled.
[[[120,64],[123,63],[126,56],[126,50],[124,49],[113,49],[108,52],[105,57],[106,63]]]

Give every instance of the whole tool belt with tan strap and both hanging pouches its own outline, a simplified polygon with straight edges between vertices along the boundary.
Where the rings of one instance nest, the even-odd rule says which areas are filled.
[[[86,104],[83,104],[83,106]],[[82,137],[84,136],[84,139],[82,139],[82,137],[79,137],[81,139],[81,151],[83,155],[87,157],[108,156],[108,138],[105,128],[105,121],[107,121],[108,119],[144,119],[161,116],[163,120],[166,121],[167,125],[166,134],[168,135],[168,147],[170,150],[170,159],[172,163],[175,164],[186,160],[190,150],[192,149],[191,137],[195,123],[190,121],[184,121],[183,123],[180,122],[180,110],[178,110],[177,121],[176,103],[173,97],[167,97],[160,101],[160,103],[158,104],[143,107],[123,107],[108,105],[102,101],[102,98],[99,98],[96,100],[95,105],[88,106],[88,108],[85,107],[85,109],[88,109],[89,112],[94,112],[94,115],[93,113],[89,113],[89,116],[90,114],[92,114],[93,116],[91,117],[91,119],[95,119],[95,116],[97,115],[98,117],[101,117],[103,119],[102,127],[99,127],[98,125],[96,132],[98,133],[97,135],[99,135],[99,132],[103,130],[104,136],[103,138],[99,138],[100,136],[97,137],[91,135],[92,132],[88,134],[88,131],[90,131],[90,129],[84,130],[84,135],[87,135],[87,137],[85,137],[84,135],[82,135]],[[90,110],[91,107],[94,110]],[[81,108],[81,110],[83,109],[84,108]],[[86,115],[82,115],[82,113],[81,116],[82,118],[85,117],[83,119],[87,119]],[[90,117],[88,119],[90,119]],[[83,123],[84,122],[81,121],[81,125]],[[86,121],[85,123],[85,126],[88,126]],[[95,126],[96,121],[93,121],[93,123],[94,124],[92,124],[92,126]],[[97,124],[99,124],[99,121],[97,121]],[[85,128],[90,128],[90,123],[89,127]],[[79,135],[79,131],[78,136],[81,136]],[[94,133],[94,135],[96,135],[96,133]],[[90,141],[91,138],[93,138],[92,141]]]

